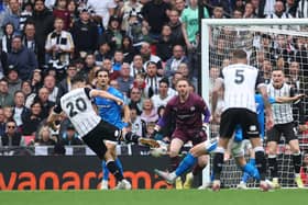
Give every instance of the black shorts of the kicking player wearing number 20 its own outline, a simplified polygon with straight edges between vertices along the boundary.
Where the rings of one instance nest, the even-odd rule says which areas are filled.
[[[90,133],[82,137],[82,140],[100,159],[103,159],[107,151],[103,140],[118,141],[120,136],[121,130],[119,128],[107,122],[100,121]]]

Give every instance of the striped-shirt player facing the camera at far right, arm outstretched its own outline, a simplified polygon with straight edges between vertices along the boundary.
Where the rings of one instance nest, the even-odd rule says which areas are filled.
[[[302,187],[300,179],[301,153],[298,138],[296,136],[295,123],[293,118],[292,103],[305,96],[305,94],[295,95],[294,89],[285,82],[284,71],[276,69],[272,71],[272,82],[267,86],[267,93],[275,99],[283,99],[285,103],[274,104],[274,126],[267,133],[268,148],[268,169],[273,178],[274,187],[279,187],[278,167],[276,161],[277,145],[282,135],[285,136],[286,143],[290,146],[293,152],[293,166],[295,170],[295,182],[298,187]]]

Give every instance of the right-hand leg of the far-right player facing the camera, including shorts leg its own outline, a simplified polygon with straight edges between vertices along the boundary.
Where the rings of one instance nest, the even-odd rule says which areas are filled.
[[[293,128],[292,128],[293,127]],[[295,182],[297,187],[304,187],[302,181],[300,179],[300,167],[301,167],[301,153],[299,148],[299,143],[297,136],[295,135],[294,130],[295,126],[293,123],[289,123],[287,126],[284,127],[284,135],[286,136],[286,140],[290,146],[290,151],[293,153],[293,164],[295,171]]]

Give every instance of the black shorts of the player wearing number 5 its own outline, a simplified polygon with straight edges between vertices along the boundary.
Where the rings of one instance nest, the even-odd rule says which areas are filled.
[[[243,138],[260,137],[256,113],[248,109],[228,109],[224,111],[221,114],[219,137],[231,138],[237,125],[242,127]]]

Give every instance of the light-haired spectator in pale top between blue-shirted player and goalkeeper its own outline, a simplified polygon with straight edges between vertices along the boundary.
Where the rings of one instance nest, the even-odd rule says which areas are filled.
[[[156,123],[158,121],[158,114],[151,99],[143,100],[143,106],[141,112],[141,118],[146,123]]]

